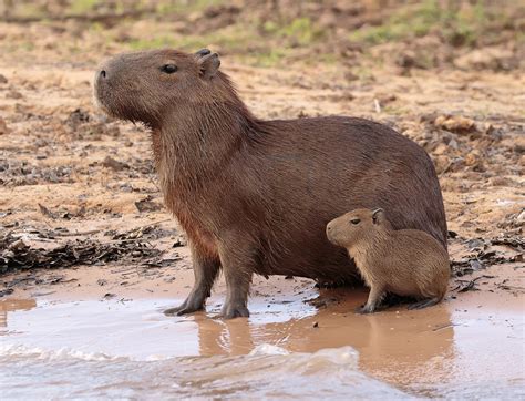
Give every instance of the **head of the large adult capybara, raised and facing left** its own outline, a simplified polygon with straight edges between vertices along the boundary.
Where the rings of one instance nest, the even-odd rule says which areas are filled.
[[[219,65],[217,53],[207,49],[194,54],[169,49],[119,54],[96,72],[95,97],[110,115],[155,126],[176,107],[213,102],[227,80]]]

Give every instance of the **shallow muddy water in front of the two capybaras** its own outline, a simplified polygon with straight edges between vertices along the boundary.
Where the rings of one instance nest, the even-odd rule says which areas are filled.
[[[223,321],[224,285],[206,313],[167,318],[175,302],[159,288],[104,300],[78,275],[54,294],[0,302],[2,397],[525,395],[519,294],[358,316],[364,290],[319,294],[308,280],[276,278],[256,282],[249,319]],[[181,301],[188,282],[175,282]]]

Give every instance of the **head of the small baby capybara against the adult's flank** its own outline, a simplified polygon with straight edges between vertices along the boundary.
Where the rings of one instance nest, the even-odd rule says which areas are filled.
[[[389,226],[383,209],[356,209],[328,223],[327,237],[330,243],[348,248],[361,239],[370,239],[374,233]]]

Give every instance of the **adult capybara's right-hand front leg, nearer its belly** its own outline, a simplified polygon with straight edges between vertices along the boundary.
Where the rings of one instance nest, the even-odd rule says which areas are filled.
[[[247,318],[249,316],[247,304],[254,271],[254,260],[250,255],[249,251],[240,249],[229,250],[223,248],[220,250],[220,263],[227,291],[220,315],[225,319]]]

